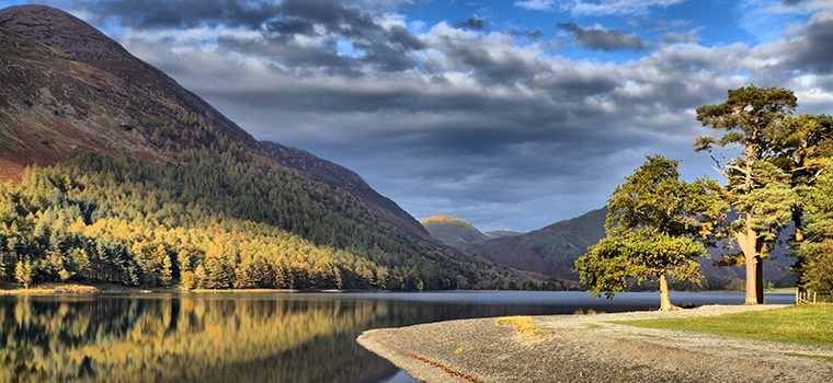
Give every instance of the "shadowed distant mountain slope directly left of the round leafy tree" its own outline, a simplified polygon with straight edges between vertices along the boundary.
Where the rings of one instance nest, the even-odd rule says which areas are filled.
[[[606,213],[607,209],[593,210],[525,234],[475,243],[465,251],[522,270],[578,280],[573,263],[604,236]]]

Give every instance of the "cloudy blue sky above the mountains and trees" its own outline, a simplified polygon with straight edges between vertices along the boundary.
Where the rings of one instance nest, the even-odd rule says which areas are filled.
[[[601,208],[650,154],[718,177],[695,108],[729,89],[833,113],[833,0],[44,2],[255,138],[481,230]]]

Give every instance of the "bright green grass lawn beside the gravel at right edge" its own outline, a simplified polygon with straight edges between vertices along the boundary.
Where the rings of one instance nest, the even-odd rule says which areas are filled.
[[[833,347],[833,304],[809,304],[719,316],[615,321],[613,323]]]

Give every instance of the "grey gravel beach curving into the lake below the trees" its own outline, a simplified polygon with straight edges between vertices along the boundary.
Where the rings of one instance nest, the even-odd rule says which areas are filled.
[[[358,343],[423,382],[833,382],[833,362],[795,356],[831,348],[609,323],[778,307],[535,316],[534,335],[494,318],[449,321],[372,329]]]

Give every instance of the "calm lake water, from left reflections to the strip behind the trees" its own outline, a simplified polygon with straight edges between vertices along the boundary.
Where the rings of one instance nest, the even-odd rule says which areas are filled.
[[[672,299],[743,303],[734,293]],[[655,292],[607,301],[563,291],[2,297],[0,380],[412,382],[358,346],[358,334],[455,318],[653,310],[658,300]]]

